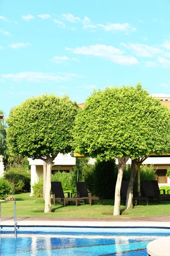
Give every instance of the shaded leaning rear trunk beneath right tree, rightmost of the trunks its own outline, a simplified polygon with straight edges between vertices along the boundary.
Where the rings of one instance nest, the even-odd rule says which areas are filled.
[[[135,174],[136,174],[135,166],[136,166],[136,159],[132,160],[132,163],[131,163],[130,181],[127,189],[127,198],[126,198],[126,209],[133,208],[132,200],[133,200],[133,187],[135,183]]]

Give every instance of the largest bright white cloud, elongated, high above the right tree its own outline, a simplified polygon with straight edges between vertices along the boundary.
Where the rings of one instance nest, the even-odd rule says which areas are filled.
[[[122,65],[138,64],[136,58],[132,56],[122,55],[124,51],[114,48],[113,46],[106,46],[104,44],[96,44],[90,45],[88,47],[83,46],[77,48],[65,47],[65,49],[77,54],[100,56],[110,61],[113,61],[114,63]]]

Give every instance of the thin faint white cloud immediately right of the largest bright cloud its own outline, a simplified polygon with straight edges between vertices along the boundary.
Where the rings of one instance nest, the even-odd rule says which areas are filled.
[[[156,47],[150,47],[146,44],[124,44],[121,43],[123,47],[126,47],[127,49],[131,49],[136,56],[138,57],[154,57],[155,55],[164,53],[164,50],[156,48]]]

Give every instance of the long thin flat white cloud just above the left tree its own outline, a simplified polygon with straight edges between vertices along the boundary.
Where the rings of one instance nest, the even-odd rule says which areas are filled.
[[[58,75],[60,74],[60,76]],[[71,77],[82,77],[74,73],[41,73],[41,72],[20,72],[16,74],[2,74],[2,79],[9,79],[11,81],[28,81],[28,82],[47,82],[47,81],[69,81]]]

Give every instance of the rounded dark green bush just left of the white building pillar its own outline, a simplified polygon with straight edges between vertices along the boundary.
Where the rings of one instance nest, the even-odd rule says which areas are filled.
[[[31,172],[22,167],[11,167],[6,169],[5,179],[13,187],[13,193],[30,191]]]

